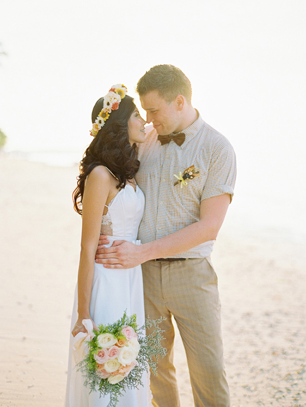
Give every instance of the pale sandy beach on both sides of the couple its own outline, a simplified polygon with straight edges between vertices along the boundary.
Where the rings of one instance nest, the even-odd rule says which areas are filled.
[[[3,407],[64,405],[80,251],[81,216],[71,200],[77,175],[77,166],[0,157]],[[305,246],[277,230],[233,225],[230,216],[212,255],[232,407],[305,406]],[[175,348],[182,407],[192,407],[179,335]]]

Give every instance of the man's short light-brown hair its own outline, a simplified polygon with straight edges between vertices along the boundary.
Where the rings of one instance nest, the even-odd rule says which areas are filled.
[[[190,80],[181,69],[173,65],[156,65],[139,79],[136,92],[140,97],[155,90],[167,102],[172,102],[177,95],[183,95],[191,102]]]

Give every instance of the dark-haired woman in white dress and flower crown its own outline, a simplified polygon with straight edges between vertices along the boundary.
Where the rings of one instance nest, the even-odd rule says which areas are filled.
[[[72,355],[72,340],[86,332],[83,319],[93,327],[112,323],[136,314],[137,323],[144,323],[141,266],[131,269],[107,269],[95,263],[100,234],[114,240],[137,239],[138,226],[144,211],[144,195],[134,176],[139,168],[135,143],[144,142],[144,124],[132,97],[123,85],[114,85],[93,107],[91,135],[94,139],[86,149],[80,176],[73,192],[74,209],[82,215],[81,255],[78,286],[74,296],[66,390],[66,407],[106,407],[109,395],[99,397],[84,386],[83,377]],[[144,386],[126,390],[117,407],[151,405],[146,375]]]

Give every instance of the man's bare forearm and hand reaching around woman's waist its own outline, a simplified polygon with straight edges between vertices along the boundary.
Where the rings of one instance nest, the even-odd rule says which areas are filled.
[[[230,194],[203,199],[198,222],[140,246],[128,241],[118,241],[115,243],[117,246],[98,250],[96,262],[103,263],[107,268],[132,268],[147,260],[174,256],[205,241],[214,240],[230,202]]]

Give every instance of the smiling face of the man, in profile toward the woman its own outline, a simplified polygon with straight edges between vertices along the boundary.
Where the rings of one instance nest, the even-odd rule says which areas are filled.
[[[152,122],[158,134],[176,132],[179,125],[179,110],[175,100],[167,102],[158,91],[150,91],[140,97],[142,108],[146,111],[147,123]]]

